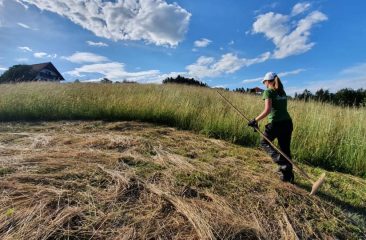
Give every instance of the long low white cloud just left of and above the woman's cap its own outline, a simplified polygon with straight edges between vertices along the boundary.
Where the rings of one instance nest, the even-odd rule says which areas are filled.
[[[186,69],[188,74],[194,77],[218,77],[222,74],[234,73],[239,69],[252,64],[264,62],[268,60],[269,57],[269,52],[252,59],[239,58],[233,53],[224,54],[217,61],[212,57],[201,56],[194,64],[188,65]]]

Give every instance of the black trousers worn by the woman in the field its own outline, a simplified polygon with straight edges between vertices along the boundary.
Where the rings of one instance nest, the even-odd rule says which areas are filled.
[[[266,125],[264,135],[273,142],[277,138],[280,149],[291,159],[291,134],[293,130],[292,120],[272,122]],[[264,138],[260,142],[261,147],[271,156],[272,160],[280,166],[290,168],[292,164],[278,153]],[[290,170],[288,169],[288,170]]]

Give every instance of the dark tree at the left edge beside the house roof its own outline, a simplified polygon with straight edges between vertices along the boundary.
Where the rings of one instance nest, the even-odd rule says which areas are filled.
[[[34,78],[30,65],[14,65],[0,76],[0,83],[23,82]]]

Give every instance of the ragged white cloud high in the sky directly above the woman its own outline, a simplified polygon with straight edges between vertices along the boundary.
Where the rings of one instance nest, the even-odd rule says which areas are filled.
[[[302,4],[294,7],[293,13],[300,13],[310,5]],[[282,59],[309,51],[314,45],[310,42],[310,30],[328,17],[320,11],[312,11],[306,17],[296,21],[291,15],[269,12],[257,16],[253,23],[253,34],[264,34],[271,40],[276,49],[273,58]],[[295,23],[295,24],[294,24]]]

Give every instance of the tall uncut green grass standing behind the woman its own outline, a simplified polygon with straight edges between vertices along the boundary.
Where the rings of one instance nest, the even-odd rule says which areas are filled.
[[[223,92],[246,116],[260,97]],[[289,102],[294,159],[366,177],[366,109]],[[0,120],[140,120],[175,126],[246,146],[259,136],[214,89],[177,85],[0,85]],[[261,124],[264,127],[264,123]]]

